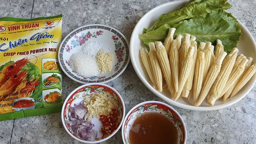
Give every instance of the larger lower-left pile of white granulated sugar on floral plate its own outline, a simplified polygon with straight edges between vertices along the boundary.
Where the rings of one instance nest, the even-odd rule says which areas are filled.
[[[99,74],[97,62],[93,56],[84,55],[82,53],[75,53],[71,55],[69,61],[71,68],[78,75],[91,77]]]

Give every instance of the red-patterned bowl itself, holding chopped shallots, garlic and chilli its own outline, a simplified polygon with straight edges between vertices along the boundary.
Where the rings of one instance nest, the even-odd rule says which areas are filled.
[[[79,136],[76,136],[75,132],[72,131],[72,128],[67,123],[68,118],[68,111],[70,107],[74,107],[77,104],[79,104],[83,100],[90,100],[92,93],[102,93],[105,97],[107,97],[114,105],[117,106],[117,116],[118,116],[118,122],[120,123],[117,129],[112,132],[109,135],[102,136],[102,133],[100,132],[100,129],[102,128],[101,121],[94,117],[92,118],[92,124],[94,124],[95,130],[98,132],[98,136],[93,141],[86,141]],[[61,120],[62,124],[65,128],[65,130],[68,132],[68,134],[73,137],[76,140],[79,140],[84,143],[99,143],[105,140],[108,140],[113,135],[116,134],[116,132],[120,129],[123,121],[124,121],[124,115],[125,115],[125,108],[124,108],[124,101],[120,94],[112,87],[108,86],[107,84],[101,84],[101,83],[92,83],[92,84],[84,84],[82,86],[79,86],[76,88],[73,92],[71,92],[68,97],[66,98],[62,111],[61,111]]]

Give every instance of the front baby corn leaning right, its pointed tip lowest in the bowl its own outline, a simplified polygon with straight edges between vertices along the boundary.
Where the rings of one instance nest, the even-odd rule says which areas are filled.
[[[208,92],[210,91],[213,83],[215,82],[216,78],[218,77],[220,73],[220,68],[223,59],[227,55],[227,52],[220,52],[219,57],[216,59],[215,63],[212,65],[212,67],[209,70],[209,73],[206,76],[203,88],[201,90],[200,96],[194,106],[199,106],[207,96]]]

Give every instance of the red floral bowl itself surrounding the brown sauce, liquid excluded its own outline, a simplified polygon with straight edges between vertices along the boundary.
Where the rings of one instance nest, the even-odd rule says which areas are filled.
[[[170,118],[170,120],[173,122],[174,126],[178,131],[178,138],[179,138],[178,143],[186,144],[186,140],[187,140],[186,126],[180,114],[171,106],[159,101],[142,102],[136,105],[135,107],[133,107],[127,113],[127,115],[124,118],[124,123],[122,125],[122,138],[123,138],[124,144],[130,144],[129,132],[135,119],[139,117],[141,114],[146,112],[159,113]]]

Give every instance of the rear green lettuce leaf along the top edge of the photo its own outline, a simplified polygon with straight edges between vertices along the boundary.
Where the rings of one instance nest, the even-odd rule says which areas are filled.
[[[227,0],[194,0],[179,10],[160,15],[155,24],[146,32],[155,30],[164,24],[173,24],[228,8],[231,8],[231,6]]]

